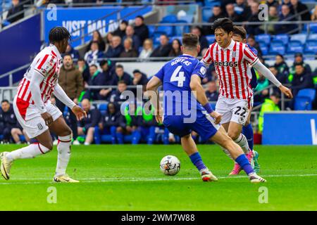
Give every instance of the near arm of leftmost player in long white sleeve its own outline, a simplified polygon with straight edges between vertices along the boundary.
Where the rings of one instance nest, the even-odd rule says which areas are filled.
[[[41,85],[43,79],[44,76],[40,72],[35,70],[30,80],[30,91],[35,107],[37,108],[37,110],[39,110],[39,113],[45,121],[45,124],[49,126],[53,122],[53,117],[51,117],[51,115],[46,112],[44,102],[42,101],[41,90],[39,89],[39,86]]]

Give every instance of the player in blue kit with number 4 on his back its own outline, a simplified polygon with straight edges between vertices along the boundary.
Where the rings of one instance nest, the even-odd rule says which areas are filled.
[[[240,146],[220,126],[221,115],[211,109],[201,86],[206,68],[197,60],[200,51],[198,36],[184,34],[181,48],[183,54],[166,63],[147,84],[157,122],[163,122],[170,132],[181,137],[182,148],[199,170],[203,181],[217,181],[217,178],[204,165],[192,139],[192,130],[201,136],[202,141],[211,140],[228,149],[252,183],[265,182],[265,179],[254,173]],[[161,84],[164,91],[163,109],[157,93]]]

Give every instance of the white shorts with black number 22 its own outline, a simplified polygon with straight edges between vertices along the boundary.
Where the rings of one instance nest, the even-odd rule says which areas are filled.
[[[219,96],[216,112],[223,116],[221,124],[236,122],[244,125],[249,115],[249,103],[247,99],[230,99]]]

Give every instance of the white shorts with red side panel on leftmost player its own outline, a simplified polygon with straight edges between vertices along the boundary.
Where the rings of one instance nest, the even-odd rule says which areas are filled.
[[[45,104],[45,108],[47,113],[53,117],[54,121],[62,115],[61,110],[53,105],[51,101],[48,101]],[[18,122],[21,124],[23,129],[25,129],[25,132],[30,139],[39,136],[49,129],[35,105],[30,105],[30,103],[15,96],[13,100],[13,110]]]

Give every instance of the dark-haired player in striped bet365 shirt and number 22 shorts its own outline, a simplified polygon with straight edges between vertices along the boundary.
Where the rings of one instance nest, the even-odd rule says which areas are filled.
[[[246,44],[232,40],[233,24],[230,19],[216,20],[212,30],[215,32],[216,42],[209,46],[201,62],[205,65],[214,63],[220,84],[216,112],[223,116],[221,124],[230,138],[242,147],[251,162],[253,154],[249,150],[246,137],[241,134],[249,115],[249,100],[252,96],[248,66],[261,72],[287,97],[292,98],[292,93],[259,61]],[[225,148],[223,150],[230,155]]]

